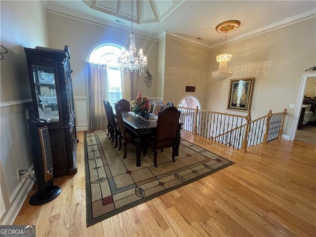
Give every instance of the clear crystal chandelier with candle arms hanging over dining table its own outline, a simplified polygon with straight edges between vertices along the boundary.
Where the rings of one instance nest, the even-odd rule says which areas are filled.
[[[139,52],[136,49],[135,45],[135,35],[133,34],[133,0],[132,3],[132,32],[129,35],[129,48],[128,51],[122,47],[122,51],[118,56],[118,64],[122,66],[125,70],[130,71],[140,71],[140,74],[144,72],[144,67],[147,66],[147,57],[144,56],[143,49],[139,49]]]

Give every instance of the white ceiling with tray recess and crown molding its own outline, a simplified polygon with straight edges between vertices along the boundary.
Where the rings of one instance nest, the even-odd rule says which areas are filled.
[[[43,2],[49,12],[131,31],[130,0]],[[223,21],[241,22],[236,31],[228,33],[227,43],[230,43],[315,15],[315,0],[133,0],[133,32],[155,40],[167,33],[215,48],[225,41],[224,34],[215,30]]]

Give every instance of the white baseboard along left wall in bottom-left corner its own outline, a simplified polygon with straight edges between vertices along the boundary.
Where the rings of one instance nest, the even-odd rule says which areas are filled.
[[[11,208],[9,209],[8,213],[3,219],[3,222],[1,225],[13,225],[13,222],[17,215],[19,214],[19,211],[22,208],[22,205],[28,195],[28,192],[33,187],[34,181],[31,179],[26,179],[25,182],[22,182],[24,185],[22,186],[22,190],[19,192],[18,196],[15,198],[13,204],[11,205]]]

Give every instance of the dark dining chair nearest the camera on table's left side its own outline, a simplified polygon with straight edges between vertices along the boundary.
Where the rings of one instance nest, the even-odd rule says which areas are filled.
[[[118,151],[120,151],[121,146],[122,146],[122,141],[123,141],[123,146],[124,146],[124,155],[123,158],[126,158],[127,155],[127,144],[128,143],[134,143],[135,142],[135,137],[129,133],[128,131],[125,130],[125,125],[122,117],[122,111],[118,105],[118,103],[115,103],[115,113],[117,116],[118,120],[118,140],[119,140],[119,146],[118,146]]]

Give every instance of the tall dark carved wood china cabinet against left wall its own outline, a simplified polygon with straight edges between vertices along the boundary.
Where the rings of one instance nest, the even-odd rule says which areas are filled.
[[[32,93],[29,116],[47,121],[53,175],[76,174],[78,139],[69,47],[24,48],[24,51]]]

